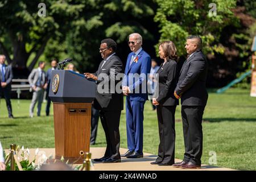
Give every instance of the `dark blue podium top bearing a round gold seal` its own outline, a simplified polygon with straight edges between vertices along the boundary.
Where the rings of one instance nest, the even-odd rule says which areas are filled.
[[[60,103],[91,103],[96,84],[84,75],[67,70],[53,70],[49,85],[49,98]]]

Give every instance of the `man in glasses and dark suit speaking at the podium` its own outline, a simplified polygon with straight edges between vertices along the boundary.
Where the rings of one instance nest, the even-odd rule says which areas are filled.
[[[115,85],[118,82],[115,81],[115,76],[118,73],[123,73],[123,64],[115,54],[116,48],[117,43],[114,40],[102,40],[100,53],[104,60],[101,61],[96,73],[84,73],[86,78],[96,81],[96,99],[93,101],[93,105],[100,110],[101,123],[106,135],[105,155],[100,159],[94,159],[96,162],[121,162],[119,122],[121,110],[123,110],[123,95],[121,89],[120,93],[115,90]],[[106,86],[108,87],[106,88]]]

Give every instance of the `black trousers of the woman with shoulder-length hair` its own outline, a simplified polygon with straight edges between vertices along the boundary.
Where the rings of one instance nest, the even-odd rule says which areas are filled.
[[[156,106],[160,143],[156,162],[174,164],[176,106]]]

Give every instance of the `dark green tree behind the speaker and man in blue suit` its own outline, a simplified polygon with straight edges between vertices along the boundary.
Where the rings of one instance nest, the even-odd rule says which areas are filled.
[[[85,1],[86,2],[86,1]],[[84,3],[85,3],[84,2]],[[81,19],[72,22],[72,32],[67,35],[67,52],[74,58],[80,71],[96,71],[102,60],[98,48],[100,41],[112,38],[118,43],[117,53],[125,63],[129,47],[127,37],[133,32],[143,36],[143,47],[155,56],[158,41],[154,23],[155,3],[150,0],[101,0],[85,6]]]

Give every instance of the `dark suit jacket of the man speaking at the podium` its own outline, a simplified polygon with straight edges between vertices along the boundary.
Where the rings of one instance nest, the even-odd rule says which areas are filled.
[[[118,73],[123,73],[123,64],[117,55],[113,55],[103,65],[104,60],[101,61],[98,71],[94,73],[97,76],[96,81],[96,100],[94,100],[94,107],[96,109],[105,110],[123,110],[123,94],[117,93],[115,86],[119,81],[115,80]],[[110,69],[114,71],[110,74]],[[114,82],[114,87],[110,88],[110,80]],[[104,86],[108,85],[108,88]],[[104,93],[99,93],[98,89],[106,90]]]

